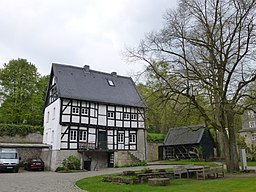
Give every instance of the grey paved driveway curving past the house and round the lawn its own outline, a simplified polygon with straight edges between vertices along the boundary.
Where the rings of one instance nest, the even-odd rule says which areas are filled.
[[[100,171],[78,173],[55,173],[20,171],[19,173],[0,173],[0,192],[81,192],[74,186],[75,181],[103,174],[112,174],[124,170],[145,168],[171,168],[172,165],[146,167],[108,168]]]

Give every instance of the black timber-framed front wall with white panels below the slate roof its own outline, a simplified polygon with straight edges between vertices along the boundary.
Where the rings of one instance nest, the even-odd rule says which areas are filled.
[[[100,106],[105,106],[105,111],[102,113],[99,113]],[[109,112],[114,114],[113,117],[108,117]],[[144,119],[139,120],[139,116],[144,117],[144,112],[142,113],[136,107],[62,98],[59,123],[65,127],[65,130],[61,133],[61,143],[67,143],[67,147],[61,147],[61,150],[79,150],[81,144],[84,143],[90,145],[92,150],[101,150],[98,133],[100,130],[104,130],[107,134],[106,150],[135,151],[137,150],[139,123],[144,122]],[[99,117],[105,118],[105,126],[99,124]],[[91,122],[92,120],[93,122]],[[72,131],[76,132],[75,140],[70,140]],[[80,141],[80,132],[82,131],[87,133],[86,142]],[[73,134],[74,132],[72,132]],[[119,134],[124,134],[122,143],[118,143]],[[90,137],[94,138],[94,142],[90,140]],[[64,138],[67,138],[67,140],[64,140]],[[71,147],[73,143],[76,144],[76,148]]]

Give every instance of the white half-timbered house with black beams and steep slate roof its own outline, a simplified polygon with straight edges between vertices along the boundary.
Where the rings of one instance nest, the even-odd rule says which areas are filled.
[[[130,77],[53,64],[44,110],[43,158],[51,170],[70,155],[88,170],[145,160],[145,102]]]

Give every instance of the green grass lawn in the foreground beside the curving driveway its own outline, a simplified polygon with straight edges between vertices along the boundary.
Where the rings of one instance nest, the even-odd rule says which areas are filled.
[[[169,186],[147,184],[112,184],[102,182],[102,176],[81,179],[76,185],[89,192],[255,192],[255,178],[220,178],[209,180],[171,179]]]

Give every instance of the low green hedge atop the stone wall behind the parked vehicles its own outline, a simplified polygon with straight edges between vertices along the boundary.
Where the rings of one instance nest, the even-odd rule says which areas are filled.
[[[43,126],[0,124],[0,136],[27,136],[30,133],[43,134]]]

